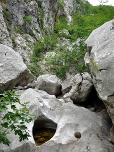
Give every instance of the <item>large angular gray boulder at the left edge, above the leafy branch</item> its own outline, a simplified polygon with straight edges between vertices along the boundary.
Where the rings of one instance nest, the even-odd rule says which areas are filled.
[[[12,89],[19,81],[27,85],[34,76],[12,48],[0,44],[0,92]],[[23,83],[22,83],[23,82]]]

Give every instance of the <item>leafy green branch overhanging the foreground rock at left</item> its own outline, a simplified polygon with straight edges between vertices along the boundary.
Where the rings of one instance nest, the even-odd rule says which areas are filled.
[[[22,104],[14,90],[0,94],[0,112],[4,113],[0,117],[0,143],[9,146],[10,141],[7,134],[11,131],[14,131],[15,135],[19,135],[19,141],[30,137],[25,123],[31,122],[36,117],[29,114],[29,110],[26,108],[28,103]],[[17,108],[17,104],[21,106],[21,109]],[[8,110],[7,107],[11,110]]]

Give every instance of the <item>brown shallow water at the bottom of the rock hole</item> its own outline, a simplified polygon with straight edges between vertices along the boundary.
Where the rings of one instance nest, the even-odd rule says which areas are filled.
[[[33,137],[36,143],[36,146],[40,146],[50,140],[54,134],[55,134],[55,129],[52,128],[42,128],[40,130],[35,131]]]

